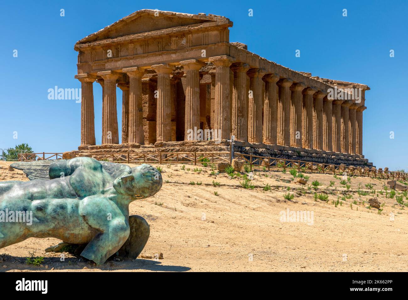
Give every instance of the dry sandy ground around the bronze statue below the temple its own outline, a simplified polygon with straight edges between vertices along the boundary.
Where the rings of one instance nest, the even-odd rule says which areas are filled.
[[[7,171],[7,164],[0,162],[0,181],[27,180],[21,171]],[[60,261],[61,253],[44,251],[59,240],[30,238],[0,250],[6,254],[0,271],[408,271],[408,208],[378,193],[386,180],[350,178],[347,191],[341,176],[305,174],[310,178],[302,186],[290,181],[289,172],[260,170],[253,173],[254,189],[244,189],[242,179],[211,175],[210,167],[161,167],[161,191],[131,203],[130,213],[151,226],[142,254],[162,252],[164,259],[108,261],[99,267],[64,253]],[[328,202],[314,199],[315,191],[308,189],[313,180],[322,183],[317,193],[327,193]],[[384,203],[381,214],[366,208],[373,195],[359,196],[359,183],[362,191],[373,184]],[[262,189],[266,184],[270,191]],[[286,193],[295,198],[286,201]],[[341,200],[346,195],[352,198]],[[313,224],[282,222],[287,209],[308,211],[310,217],[313,212]],[[42,266],[25,264],[29,251],[45,257]]]

